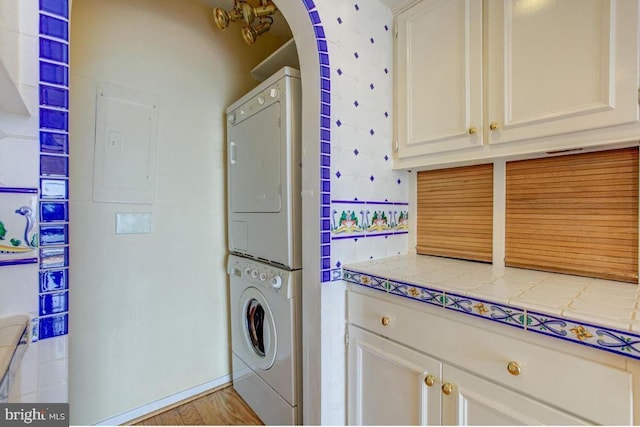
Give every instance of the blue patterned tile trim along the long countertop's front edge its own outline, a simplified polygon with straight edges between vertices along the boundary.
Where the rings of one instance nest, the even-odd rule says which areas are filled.
[[[640,335],[343,268],[342,280],[528,332],[640,360]]]

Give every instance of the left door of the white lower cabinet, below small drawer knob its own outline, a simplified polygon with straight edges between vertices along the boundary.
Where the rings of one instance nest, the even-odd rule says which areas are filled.
[[[349,326],[350,425],[440,425],[439,378],[437,360]]]

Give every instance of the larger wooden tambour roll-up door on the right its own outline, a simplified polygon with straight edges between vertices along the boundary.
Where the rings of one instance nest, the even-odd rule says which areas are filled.
[[[508,266],[638,283],[638,149],[507,163]]]

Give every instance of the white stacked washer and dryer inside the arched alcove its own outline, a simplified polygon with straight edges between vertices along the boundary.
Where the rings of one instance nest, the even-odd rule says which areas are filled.
[[[265,424],[301,424],[299,71],[227,108],[227,154],[233,387]]]

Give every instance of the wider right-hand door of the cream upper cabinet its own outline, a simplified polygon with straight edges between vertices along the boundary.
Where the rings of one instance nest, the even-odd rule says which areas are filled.
[[[638,121],[637,0],[486,5],[490,144]]]

